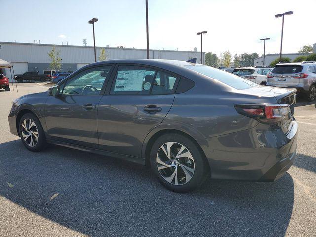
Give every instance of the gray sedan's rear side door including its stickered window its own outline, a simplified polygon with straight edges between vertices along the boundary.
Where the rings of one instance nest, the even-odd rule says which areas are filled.
[[[179,77],[142,65],[118,65],[108,95],[98,109],[101,149],[141,156],[146,135],[169,112]]]

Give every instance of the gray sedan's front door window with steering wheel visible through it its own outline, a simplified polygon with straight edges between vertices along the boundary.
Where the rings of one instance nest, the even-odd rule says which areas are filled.
[[[63,95],[99,95],[111,66],[87,69],[67,80]]]

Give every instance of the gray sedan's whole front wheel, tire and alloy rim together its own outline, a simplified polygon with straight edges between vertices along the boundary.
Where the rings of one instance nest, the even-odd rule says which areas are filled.
[[[32,113],[24,114],[20,119],[19,134],[23,145],[32,152],[39,152],[46,147],[45,133],[40,124],[40,120]],[[37,140],[36,135],[38,135]]]

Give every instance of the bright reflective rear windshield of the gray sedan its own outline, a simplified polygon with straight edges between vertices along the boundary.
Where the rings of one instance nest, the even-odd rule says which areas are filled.
[[[237,90],[249,89],[251,87],[258,87],[259,85],[251,82],[250,80],[240,78],[234,74],[219,70],[217,68],[212,68],[205,65],[186,65],[184,66],[188,69],[196,71],[198,73],[204,74],[210,78],[219,80],[220,82],[227,84]]]

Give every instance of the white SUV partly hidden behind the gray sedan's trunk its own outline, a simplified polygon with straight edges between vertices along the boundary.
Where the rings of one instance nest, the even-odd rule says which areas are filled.
[[[236,74],[242,78],[251,80],[260,85],[267,84],[267,74],[270,73],[272,68],[265,66],[254,66],[254,67],[238,67],[233,70],[233,74]]]

